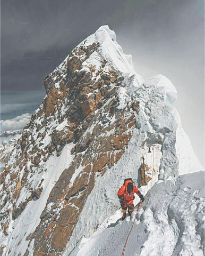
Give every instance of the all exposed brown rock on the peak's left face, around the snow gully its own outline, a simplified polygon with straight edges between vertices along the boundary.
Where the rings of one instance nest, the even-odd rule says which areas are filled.
[[[33,255],[61,255],[96,178],[119,161],[133,134],[138,106],[120,106],[118,89],[124,87],[124,77],[104,59],[99,67],[92,63],[83,66],[98,47],[97,43],[76,47],[62,66],[44,79],[47,95],[13,150],[15,161],[9,162],[2,173],[2,207],[12,201],[8,211],[15,220],[44,189],[43,179],[35,187],[29,180],[45,171],[43,166],[50,156],[60,156],[65,145],[74,143],[73,161],[53,187],[40,224],[27,237],[28,248],[34,239]],[[62,129],[57,129],[60,124],[64,124]],[[71,183],[75,172],[78,175]],[[28,196],[16,204],[23,187]],[[47,207],[49,204],[52,207]],[[7,234],[11,220],[6,212],[3,218]],[[30,255],[29,249],[24,255]]]

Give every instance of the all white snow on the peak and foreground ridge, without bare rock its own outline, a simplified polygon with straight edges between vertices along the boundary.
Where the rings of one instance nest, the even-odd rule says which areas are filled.
[[[108,26],[100,27],[86,39],[84,45],[93,42],[99,43],[99,50],[83,62],[82,68],[86,70],[92,64],[97,70],[105,59],[124,77],[124,86],[118,89],[119,109],[131,108],[133,102],[138,105],[136,128],[121,159],[109,172],[96,178],[95,187],[87,197],[79,221],[61,255],[119,256],[133,222],[125,256],[204,255],[204,169],[173,107],[177,100],[174,85],[163,75],[152,77],[145,83],[134,71],[131,55],[123,53],[114,31]],[[64,69],[63,62],[57,69]],[[93,72],[97,74],[97,71]],[[110,123],[114,120],[115,116]],[[51,123],[49,131],[54,127],[63,131],[66,125],[66,121]],[[92,126],[88,127],[86,133],[91,134],[92,129]],[[49,134],[45,138],[44,143],[48,145]],[[3,256],[24,255],[29,244],[27,238],[39,225],[50,191],[61,173],[72,163],[72,147],[73,143],[66,145],[60,156],[54,153],[46,163],[40,163],[43,171],[30,177],[33,187],[35,182],[42,180],[42,194],[36,201],[30,201],[19,217],[10,223],[8,235],[1,231]],[[14,159],[10,158],[10,161]],[[146,199],[137,219],[135,210],[131,218],[122,221],[117,190],[125,178],[133,178],[137,185],[138,169],[143,163],[148,166],[149,182],[139,189]],[[80,172],[80,169],[75,170],[70,186],[73,186]],[[28,197],[27,193],[26,189],[21,189],[18,204]],[[138,202],[139,197],[136,196],[135,205]],[[33,242],[29,252],[33,255]]]

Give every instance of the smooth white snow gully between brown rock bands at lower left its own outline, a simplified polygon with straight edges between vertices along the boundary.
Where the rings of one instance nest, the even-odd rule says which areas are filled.
[[[50,191],[54,187],[61,173],[65,168],[69,167],[72,162],[72,147],[73,143],[66,145],[60,157],[57,157],[55,154],[54,156],[51,156],[48,161],[44,163],[44,169],[47,171],[43,172],[41,175],[36,173],[35,177],[32,177],[32,182],[38,182],[38,180],[43,179],[42,195],[38,200],[30,201],[25,207],[23,214],[21,214],[16,221],[12,221],[10,230],[8,230],[11,235],[5,236],[2,241],[2,245],[7,245],[7,247],[10,247],[11,249],[15,249],[16,244],[19,244],[15,250],[16,255],[25,253],[29,244],[27,237],[31,235],[38,226],[40,222],[40,214],[44,210]],[[22,189],[17,204],[23,202],[27,196],[28,191],[26,189]],[[49,205],[49,207],[51,206],[52,205]]]

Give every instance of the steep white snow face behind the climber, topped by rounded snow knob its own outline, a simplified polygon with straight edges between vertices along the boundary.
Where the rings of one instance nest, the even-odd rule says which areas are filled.
[[[151,81],[154,81],[153,84]],[[117,190],[125,178],[135,178],[142,194],[147,194],[158,179],[175,182],[180,174],[203,170],[193,151],[186,148],[189,140],[186,140],[181,119],[171,105],[177,99],[177,93],[169,79],[158,75],[146,85],[133,88],[131,95],[126,87],[119,91],[122,108],[125,102],[129,105],[130,101],[133,108],[137,106],[136,129],[132,139],[118,163],[97,179],[63,255],[68,255],[76,241],[82,236],[88,237],[107,216],[114,213],[116,206],[119,206]],[[177,139],[180,139],[180,145]],[[179,154],[181,148],[183,155]]]

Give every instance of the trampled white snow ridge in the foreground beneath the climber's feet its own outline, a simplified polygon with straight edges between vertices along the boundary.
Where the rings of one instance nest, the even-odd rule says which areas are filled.
[[[105,219],[91,236],[82,237],[70,255],[203,256],[204,171],[185,174],[175,181],[158,181],[135,219],[121,221],[121,211]],[[68,255],[68,254],[64,254]]]

